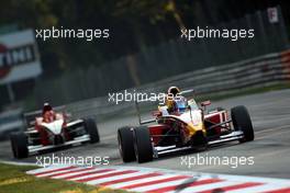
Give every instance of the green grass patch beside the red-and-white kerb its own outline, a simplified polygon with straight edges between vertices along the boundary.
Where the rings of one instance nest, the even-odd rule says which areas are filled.
[[[0,163],[0,193],[124,193],[69,181],[35,178],[25,171],[36,167]]]

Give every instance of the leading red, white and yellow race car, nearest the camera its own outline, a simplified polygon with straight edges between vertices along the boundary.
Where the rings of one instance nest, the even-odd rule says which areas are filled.
[[[187,90],[180,93],[193,92]],[[118,129],[120,155],[124,162],[152,161],[164,154],[176,150],[205,150],[212,145],[238,140],[254,140],[250,116],[245,106],[238,105],[231,111],[222,107],[208,111],[210,101],[197,104],[187,99],[187,106],[180,114],[169,114],[166,106],[153,112],[153,118],[142,121],[138,103],[140,126],[124,126]]]

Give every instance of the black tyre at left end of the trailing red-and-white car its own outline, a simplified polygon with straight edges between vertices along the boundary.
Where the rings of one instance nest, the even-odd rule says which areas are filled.
[[[10,141],[14,158],[27,158],[27,137],[24,133],[13,133],[10,135]]]

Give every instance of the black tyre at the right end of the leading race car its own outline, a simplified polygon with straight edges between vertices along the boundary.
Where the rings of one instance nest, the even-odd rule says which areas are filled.
[[[232,121],[235,130],[242,130],[244,137],[239,139],[239,143],[254,140],[253,124],[245,106],[235,106],[231,110]]]

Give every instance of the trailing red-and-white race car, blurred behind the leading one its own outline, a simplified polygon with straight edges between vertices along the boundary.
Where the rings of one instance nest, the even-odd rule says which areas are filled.
[[[24,113],[27,128],[10,135],[15,158],[26,158],[56,147],[100,141],[93,118],[71,120],[68,113],[62,112],[64,106],[55,110],[58,113],[45,104],[42,111]]]

